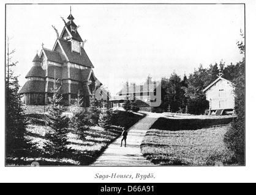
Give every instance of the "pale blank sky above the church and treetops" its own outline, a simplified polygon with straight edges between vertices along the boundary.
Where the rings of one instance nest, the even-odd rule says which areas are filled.
[[[56,32],[64,27],[70,5],[7,5],[6,35],[15,49],[14,68],[20,85],[32,67],[36,52],[53,49]],[[242,60],[236,41],[244,29],[244,5],[72,5],[72,15],[94,65],[94,73],[112,96],[124,82],[143,83],[170,77],[181,78],[195,68],[225,65]],[[66,19],[67,21],[67,19]]]

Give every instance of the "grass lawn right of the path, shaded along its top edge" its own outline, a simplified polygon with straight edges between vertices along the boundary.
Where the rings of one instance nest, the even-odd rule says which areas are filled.
[[[197,126],[206,127],[196,129],[193,128],[194,119],[191,119],[190,123],[186,121],[186,124],[183,123],[184,121],[166,118],[165,121],[171,121],[163,124],[164,118],[159,120],[146,133],[141,144],[143,155],[155,165],[215,165],[216,162],[234,165],[234,154],[224,143],[224,134],[230,128],[229,124],[208,127],[214,123],[217,125],[218,121],[210,123],[201,121],[201,124],[197,121],[195,123]],[[226,119],[220,124],[225,123],[223,121]],[[156,129],[157,126],[159,128]],[[192,130],[181,130],[182,127],[189,126]]]

